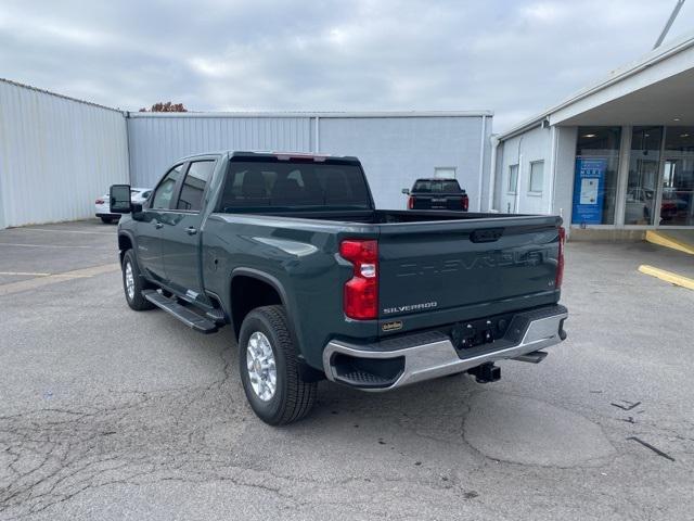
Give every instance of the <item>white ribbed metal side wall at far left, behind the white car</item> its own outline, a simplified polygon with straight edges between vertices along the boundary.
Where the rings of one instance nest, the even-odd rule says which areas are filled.
[[[0,80],[0,228],[93,216],[127,179],[119,111]]]

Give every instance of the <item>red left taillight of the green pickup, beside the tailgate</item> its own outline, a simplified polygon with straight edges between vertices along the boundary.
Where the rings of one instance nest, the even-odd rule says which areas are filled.
[[[378,316],[378,243],[373,240],[349,239],[339,244],[339,254],[355,269],[345,283],[343,307],[345,315],[356,320]]]

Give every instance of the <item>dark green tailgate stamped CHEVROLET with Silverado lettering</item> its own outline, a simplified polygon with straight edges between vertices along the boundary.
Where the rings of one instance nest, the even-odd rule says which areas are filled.
[[[556,302],[560,225],[553,216],[383,225],[381,329],[435,327]],[[402,323],[393,327],[394,319]]]

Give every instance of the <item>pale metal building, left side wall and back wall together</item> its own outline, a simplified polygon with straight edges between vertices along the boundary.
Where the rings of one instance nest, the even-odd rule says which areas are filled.
[[[486,209],[492,113],[126,113],[0,79],[0,228],[93,216],[113,183],[154,187],[181,156],[278,150],[358,156],[376,205],[417,177],[459,179]]]

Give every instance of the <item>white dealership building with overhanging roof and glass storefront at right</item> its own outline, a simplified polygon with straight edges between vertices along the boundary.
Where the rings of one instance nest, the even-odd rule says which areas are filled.
[[[694,229],[694,34],[492,137],[488,207],[574,238]]]

